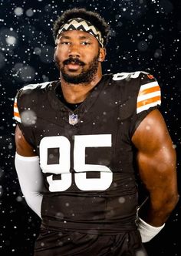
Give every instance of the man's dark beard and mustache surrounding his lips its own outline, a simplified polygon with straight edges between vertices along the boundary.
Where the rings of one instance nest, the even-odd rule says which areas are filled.
[[[89,63],[89,67],[87,69],[84,69],[85,63],[81,62],[79,59],[74,59],[74,58],[67,59],[63,62],[64,65],[71,62],[76,62],[77,64],[82,66],[82,71],[77,76],[69,75],[65,72],[64,66],[62,66],[61,68],[59,67],[61,71],[61,76],[64,78],[64,81],[67,83],[72,83],[72,84],[91,83],[91,81],[94,80],[94,77],[97,73],[98,64],[99,64],[98,58],[99,58],[99,54],[95,56],[94,59]],[[58,66],[58,62],[56,63],[56,65]]]

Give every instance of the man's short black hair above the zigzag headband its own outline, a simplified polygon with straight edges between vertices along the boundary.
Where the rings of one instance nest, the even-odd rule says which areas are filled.
[[[58,17],[53,25],[54,40],[58,35],[58,30],[64,25],[69,19],[82,18],[91,22],[101,33],[104,39],[104,46],[107,45],[108,36],[110,34],[110,25],[102,18],[97,12],[87,11],[85,8],[71,8]]]

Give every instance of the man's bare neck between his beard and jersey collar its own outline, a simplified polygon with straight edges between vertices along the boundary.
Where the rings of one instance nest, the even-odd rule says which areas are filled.
[[[64,81],[61,76],[61,89],[67,103],[82,103],[102,78],[102,72],[98,72],[91,83],[73,84]]]

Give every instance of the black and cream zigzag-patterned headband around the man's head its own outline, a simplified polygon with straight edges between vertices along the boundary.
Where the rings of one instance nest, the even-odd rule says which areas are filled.
[[[104,47],[104,39],[99,30],[97,30],[91,22],[87,22],[85,19],[75,18],[69,19],[67,23],[61,26],[61,29],[58,30],[58,35],[56,37],[55,43],[57,43],[59,35],[68,30],[81,30],[93,35],[97,41],[100,43],[101,47]]]

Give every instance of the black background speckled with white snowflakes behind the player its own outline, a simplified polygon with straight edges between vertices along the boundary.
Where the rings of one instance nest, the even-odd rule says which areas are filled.
[[[0,255],[29,256],[40,225],[22,197],[15,172],[15,93],[28,83],[58,79],[52,23],[67,8],[100,12],[111,26],[105,72],[144,70],[162,89],[161,111],[178,155],[180,193],[180,1],[0,1]],[[146,243],[150,256],[180,256],[180,202],[164,229]],[[137,255],[143,256],[143,255]]]

